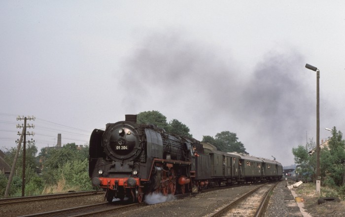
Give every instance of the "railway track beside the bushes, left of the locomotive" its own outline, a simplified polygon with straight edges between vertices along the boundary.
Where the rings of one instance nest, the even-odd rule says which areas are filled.
[[[79,191],[79,192],[45,194],[45,195],[28,196],[28,197],[4,198],[4,199],[0,199],[0,206],[16,204],[16,203],[34,202],[34,201],[40,201],[40,200],[52,200],[52,199],[60,199],[60,198],[67,198],[67,197],[88,196],[92,194],[101,194],[101,193],[104,194],[103,191]]]

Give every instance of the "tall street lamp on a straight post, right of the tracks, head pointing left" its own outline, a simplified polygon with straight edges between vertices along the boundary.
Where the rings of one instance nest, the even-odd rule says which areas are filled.
[[[316,193],[320,193],[320,71],[309,64],[306,68],[316,72]]]

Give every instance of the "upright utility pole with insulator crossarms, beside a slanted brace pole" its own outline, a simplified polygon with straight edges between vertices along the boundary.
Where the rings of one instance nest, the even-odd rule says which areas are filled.
[[[27,124],[27,120],[35,120],[34,116],[28,116],[28,117],[24,117],[24,116],[18,116],[17,120],[24,120],[24,125],[19,125],[17,124],[17,128],[22,128],[23,127],[23,132],[24,132],[24,142],[23,142],[23,175],[22,175],[22,197],[25,196],[25,167],[26,167],[26,136],[34,136],[35,133],[34,132],[26,132],[27,128],[35,128],[34,124]],[[25,129],[25,130],[24,130]],[[20,132],[18,131],[18,135],[21,135]],[[17,141],[16,141],[17,142]],[[31,141],[28,141],[28,143],[34,143],[35,141],[33,141],[33,139],[31,139]],[[18,145],[19,146],[19,145]]]

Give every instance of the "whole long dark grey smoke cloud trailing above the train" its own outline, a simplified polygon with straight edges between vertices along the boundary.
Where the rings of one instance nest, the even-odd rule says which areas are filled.
[[[192,133],[235,132],[250,154],[292,159],[291,148],[303,140],[297,135],[315,116],[301,54],[270,53],[248,73],[218,49],[173,34],[146,38],[124,64],[123,105],[173,112]]]

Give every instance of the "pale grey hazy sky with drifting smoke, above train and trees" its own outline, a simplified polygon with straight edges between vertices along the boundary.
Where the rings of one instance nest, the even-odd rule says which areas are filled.
[[[38,151],[156,110],[197,140],[237,134],[250,155],[345,131],[345,1],[0,1],[0,148],[35,116]]]

